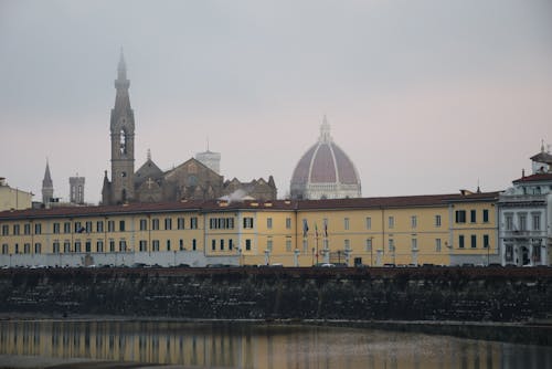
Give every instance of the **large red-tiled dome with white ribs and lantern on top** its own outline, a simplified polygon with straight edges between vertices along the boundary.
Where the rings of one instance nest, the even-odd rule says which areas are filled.
[[[294,199],[360,198],[360,178],[347,154],[333,143],[323,117],[318,143],[299,159],[291,177]]]

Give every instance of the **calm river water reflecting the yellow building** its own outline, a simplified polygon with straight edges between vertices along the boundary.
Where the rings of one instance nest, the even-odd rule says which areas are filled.
[[[552,368],[552,348],[365,328],[3,320],[0,354],[191,368]]]

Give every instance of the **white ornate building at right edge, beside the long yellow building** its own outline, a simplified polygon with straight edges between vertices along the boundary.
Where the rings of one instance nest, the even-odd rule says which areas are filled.
[[[499,198],[502,265],[552,264],[552,155],[531,157],[533,172],[522,173]]]

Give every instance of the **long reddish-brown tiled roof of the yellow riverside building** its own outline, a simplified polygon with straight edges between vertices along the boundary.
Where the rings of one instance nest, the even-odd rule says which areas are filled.
[[[379,209],[446,205],[460,201],[497,201],[499,192],[470,194],[425,194],[386,198],[326,199],[326,200],[274,200],[274,201],[219,201],[188,200],[180,202],[131,203],[127,205],[71,207],[52,209],[28,209],[0,212],[2,219],[35,219],[66,217],[108,217],[116,214],[144,214],[159,212],[213,212],[236,210],[340,210],[340,209]]]

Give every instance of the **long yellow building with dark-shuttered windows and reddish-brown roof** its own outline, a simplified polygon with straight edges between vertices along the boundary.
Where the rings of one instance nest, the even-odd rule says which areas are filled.
[[[0,265],[488,264],[498,192],[0,212]]]

